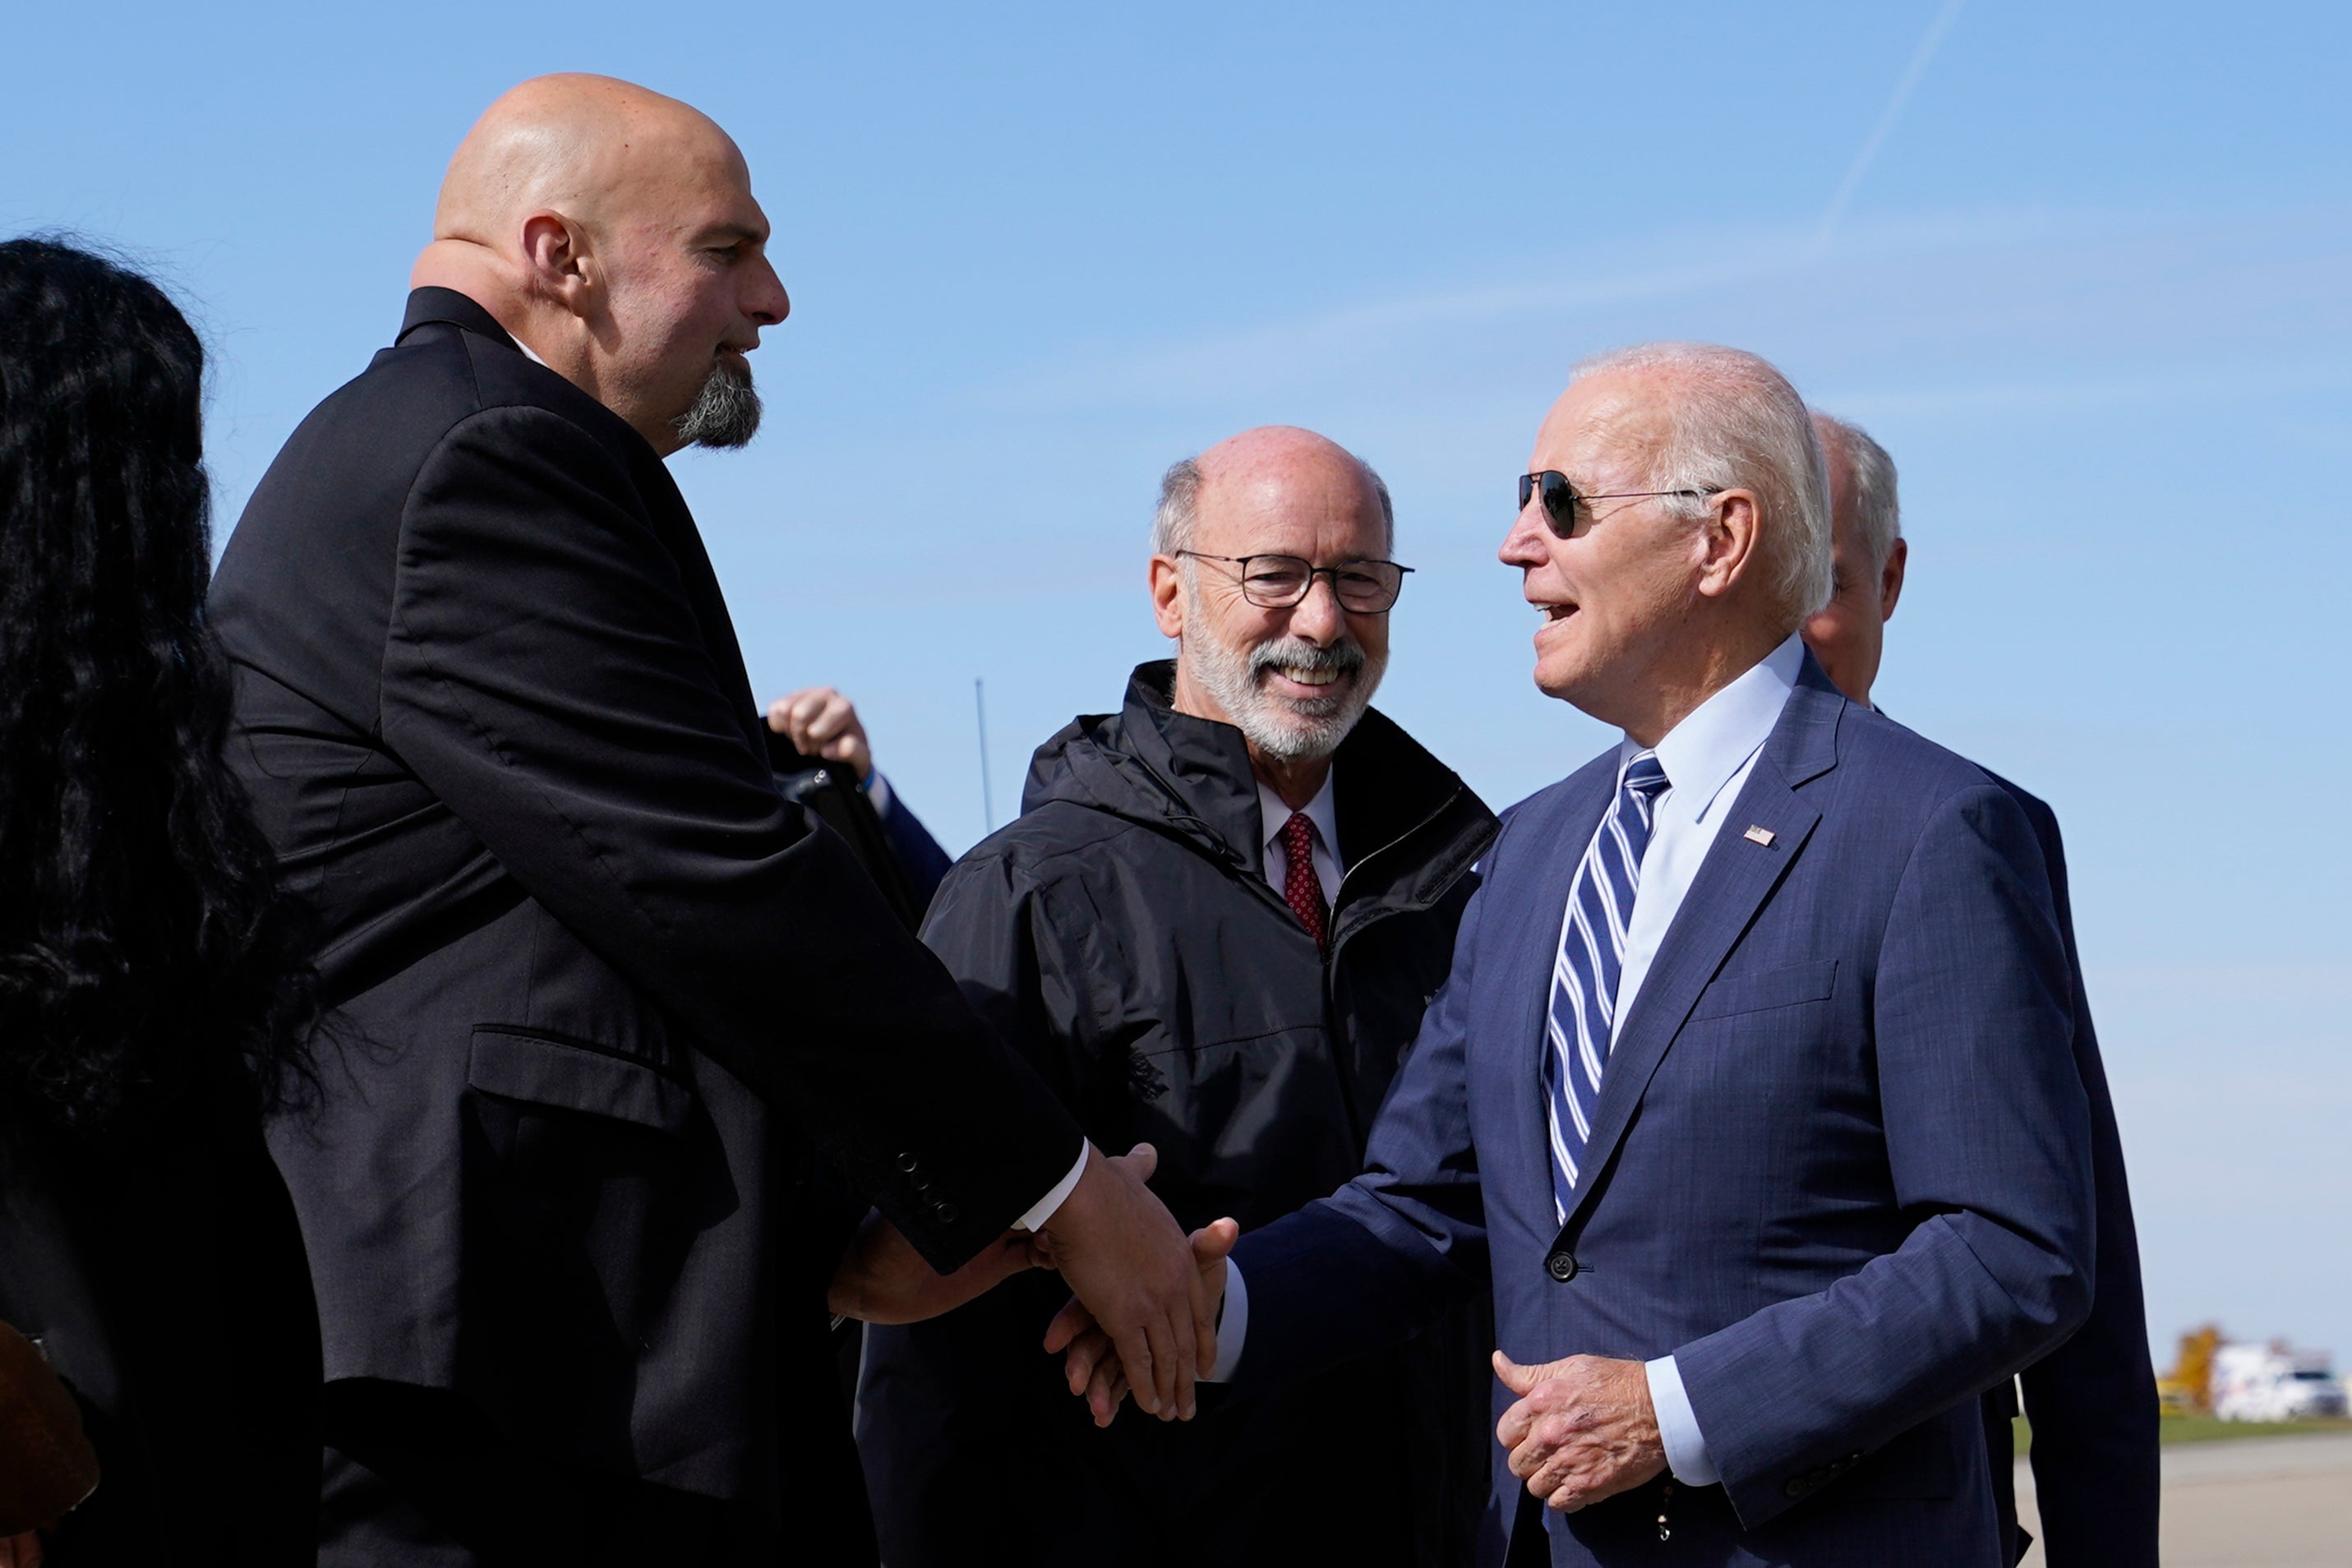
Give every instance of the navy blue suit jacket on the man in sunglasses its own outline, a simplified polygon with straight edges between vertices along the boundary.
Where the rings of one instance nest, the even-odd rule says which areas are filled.
[[[1409,1333],[1491,1272],[1522,1363],[1675,1354],[1724,1476],[1677,1488],[1670,1542],[1656,1488],[1559,1519],[1555,1563],[2006,1566],[1978,1394],[2093,1286],[2032,823],[1806,658],[1625,1018],[1562,1227],[1543,1016],[1613,788],[1611,750],[1512,813],[1367,1173],[1242,1239],[1237,1382]],[[1519,1507],[1501,1448],[1496,1495]]]

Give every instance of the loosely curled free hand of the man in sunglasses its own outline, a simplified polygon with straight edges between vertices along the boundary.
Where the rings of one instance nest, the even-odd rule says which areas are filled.
[[[1639,1361],[1569,1356],[1519,1366],[1494,1352],[1494,1375],[1519,1396],[1494,1434],[1510,1448],[1510,1474],[1545,1507],[1573,1514],[1665,1469]]]

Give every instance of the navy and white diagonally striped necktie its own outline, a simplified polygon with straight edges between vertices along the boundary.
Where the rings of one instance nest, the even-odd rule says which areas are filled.
[[[1602,1067],[1616,1032],[1616,983],[1625,966],[1625,924],[1642,884],[1642,851],[1651,816],[1665,792],[1658,752],[1635,752],[1618,778],[1616,802],[1585,846],[1569,889],[1552,964],[1552,1016],[1545,1027],[1543,1100],[1552,1133],[1552,1204],[1566,1222],[1576,1178],[1592,1143],[1592,1112],[1602,1100]]]

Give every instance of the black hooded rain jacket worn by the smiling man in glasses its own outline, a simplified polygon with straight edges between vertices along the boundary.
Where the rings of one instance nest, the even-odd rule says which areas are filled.
[[[1105,1152],[1160,1150],[1185,1229],[1256,1229],[1362,1168],[1446,978],[1494,813],[1367,712],[1334,757],[1331,954],[1263,872],[1242,731],[1171,710],[1171,663],[1037,750],[1023,813],[924,922],[971,1004]],[[1068,1300],[1014,1279],[870,1328],[858,1394],[882,1556],[934,1563],[1468,1561],[1486,1479],[1486,1309],[1272,1396],[1096,1432],[1040,1349]]]

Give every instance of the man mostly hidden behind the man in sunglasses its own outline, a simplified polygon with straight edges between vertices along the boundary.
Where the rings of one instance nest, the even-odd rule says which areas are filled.
[[[1865,430],[1813,414],[1830,468],[1835,588],[1804,623],[1804,642],[1823,672],[1870,708],[1870,686],[1886,646],[1886,621],[1903,595],[1910,545],[1893,458]],[[2006,778],[1994,778],[2025,809],[2051,870],[2051,893],[2067,943],[2074,985],[2074,1065],[2091,1107],[2091,1164],[2098,1192],[2098,1300],[2065,1345],[2027,1366],[2016,1385],[1985,1394],[1985,1453],[2004,1528],[2016,1530],[2009,1425],[2025,1396],[2034,1446],[2034,1505],[2051,1568],[2154,1568],[2157,1563],[2157,1375],[2147,1359],[2147,1305],[2140,1293],[2140,1246],[2124,1180],[2124,1143],[2098,1058],[2098,1032],[2074,952],[2067,907],[2065,846],[2058,813]],[[2016,1530],[2016,1556],[2032,1537]]]

